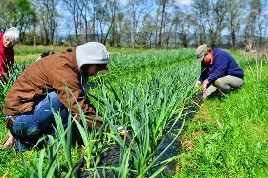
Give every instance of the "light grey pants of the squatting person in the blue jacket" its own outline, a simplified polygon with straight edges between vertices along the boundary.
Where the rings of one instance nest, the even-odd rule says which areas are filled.
[[[218,94],[229,93],[231,89],[238,89],[243,85],[243,79],[235,77],[232,75],[227,75],[215,80],[215,83],[212,83],[206,92],[203,94],[203,99],[214,97]]]

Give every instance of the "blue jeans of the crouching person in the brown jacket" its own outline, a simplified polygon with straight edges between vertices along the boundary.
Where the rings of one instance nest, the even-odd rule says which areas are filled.
[[[81,89],[85,95],[85,88],[81,86]],[[29,150],[43,134],[55,136],[53,125],[56,126],[56,123],[48,98],[50,98],[52,108],[60,112],[63,127],[67,127],[68,110],[60,102],[57,93],[52,91],[36,102],[34,110],[16,115],[15,120],[9,115],[5,116],[6,121],[9,117],[13,120],[10,131],[15,137],[15,148],[17,152],[19,150]],[[77,131],[76,133],[78,134]]]

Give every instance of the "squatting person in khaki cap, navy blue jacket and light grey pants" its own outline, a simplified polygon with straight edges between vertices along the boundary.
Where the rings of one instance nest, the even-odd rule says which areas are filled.
[[[244,72],[227,52],[212,50],[210,45],[203,44],[196,49],[195,54],[197,62],[201,62],[201,75],[195,88],[203,84],[203,99],[229,93],[231,89],[243,85]]]

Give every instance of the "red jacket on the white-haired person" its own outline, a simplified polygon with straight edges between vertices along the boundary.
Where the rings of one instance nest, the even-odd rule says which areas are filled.
[[[4,47],[4,33],[0,33],[0,80],[3,80],[2,76],[8,76],[8,67],[5,64],[9,67],[14,64],[14,50],[13,47]]]

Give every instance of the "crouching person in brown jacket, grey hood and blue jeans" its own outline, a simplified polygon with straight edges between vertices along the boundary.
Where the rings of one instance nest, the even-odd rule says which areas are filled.
[[[88,127],[99,129],[102,118],[96,116],[84,86],[90,76],[99,71],[109,74],[110,55],[98,42],[77,47],[74,52],[63,51],[44,57],[28,66],[15,81],[5,99],[3,112],[7,128],[15,138],[16,151],[26,151],[36,144],[39,135],[53,134],[55,111],[60,112],[64,126],[68,124],[70,98],[72,113],[79,113],[79,103],[87,116]],[[74,97],[65,90],[67,86]],[[97,117],[97,122],[95,118]],[[80,121],[80,117],[76,117]],[[10,144],[9,144],[10,145]]]

